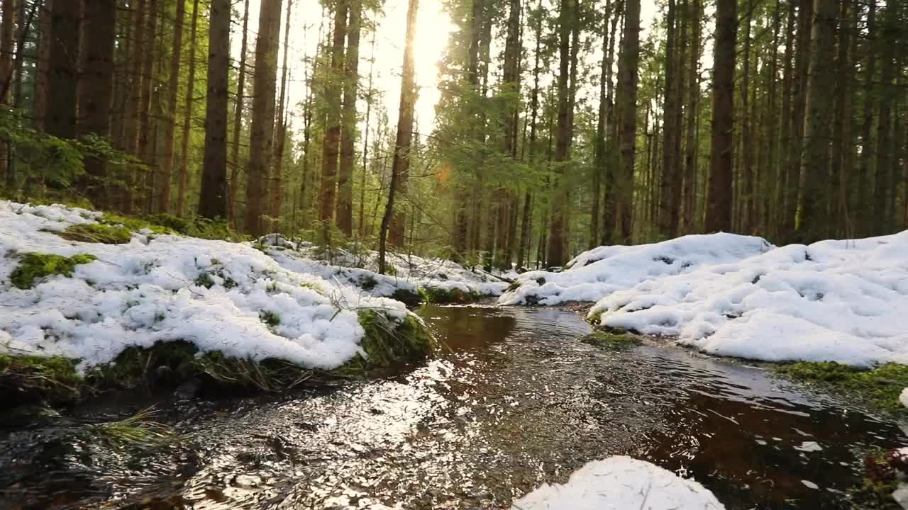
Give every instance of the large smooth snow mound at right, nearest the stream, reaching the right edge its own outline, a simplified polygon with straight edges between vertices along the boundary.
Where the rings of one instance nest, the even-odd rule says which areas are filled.
[[[722,356],[908,364],[908,230],[789,245],[646,280],[599,300],[590,316],[597,313],[602,326]]]

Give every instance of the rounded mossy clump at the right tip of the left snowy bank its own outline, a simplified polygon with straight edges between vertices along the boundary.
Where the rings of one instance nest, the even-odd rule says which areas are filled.
[[[360,311],[360,326],[366,335],[360,347],[366,357],[357,356],[333,375],[362,377],[372,371],[385,371],[404,363],[419,362],[435,348],[435,338],[417,317],[408,315],[401,322],[388,319],[375,310]]]

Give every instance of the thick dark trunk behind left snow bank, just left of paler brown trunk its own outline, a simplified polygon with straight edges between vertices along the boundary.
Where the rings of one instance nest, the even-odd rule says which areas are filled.
[[[202,192],[199,194],[199,216],[203,218],[225,218],[227,216],[227,98],[230,72],[230,4],[230,0],[212,0],[211,27],[208,34],[208,98],[205,102],[205,152],[202,161]],[[268,0],[262,2],[262,19],[267,15],[264,12],[266,6],[271,6]],[[280,15],[280,11],[278,11],[278,14]],[[256,73],[258,73],[260,67],[263,70],[267,69],[268,64],[265,58],[256,60]],[[273,79],[274,73],[273,67],[271,67],[271,80],[273,81]],[[274,94],[271,93],[271,108],[273,108],[273,104]],[[268,139],[271,140],[271,137],[269,136]],[[260,154],[260,157],[266,158],[267,155]],[[252,181],[252,178],[250,181]],[[258,219],[258,216],[256,216],[256,219]],[[249,230],[248,225],[247,230]],[[253,233],[259,232],[254,231]]]

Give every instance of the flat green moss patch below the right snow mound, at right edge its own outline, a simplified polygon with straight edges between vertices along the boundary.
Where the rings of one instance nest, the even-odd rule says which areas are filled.
[[[854,397],[885,413],[908,416],[908,409],[899,402],[899,394],[908,387],[908,366],[888,363],[867,370],[830,361],[789,363],[776,370],[785,377]]]

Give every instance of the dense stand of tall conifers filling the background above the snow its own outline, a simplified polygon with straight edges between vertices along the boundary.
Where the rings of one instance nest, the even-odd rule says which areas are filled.
[[[399,104],[373,88],[374,0],[2,6],[9,198],[502,269],[688,233],[908,225],[900,1],[666,0],[642,19],[640,0],[414,0]],[[452,25],[428,120],[419,8]]]

